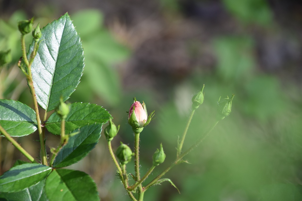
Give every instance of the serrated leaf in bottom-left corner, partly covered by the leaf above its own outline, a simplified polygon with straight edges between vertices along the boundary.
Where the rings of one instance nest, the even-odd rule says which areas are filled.
[[[0,200],[4,199],[7,201],[47,201],[48,199],[46,197],[44,189],[45,181],[46,179],[19,192],[0,193]]]

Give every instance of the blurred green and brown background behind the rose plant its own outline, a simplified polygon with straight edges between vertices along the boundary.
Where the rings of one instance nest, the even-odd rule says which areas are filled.
[[[175,159],[191,98],[205,84],[184,149],[215,120],[220,95],[236,94],[232,113],[175,166],[169,183],[150,188],[146,201],[302,200],[302,3],[300,0],[0,0],[0,49],[13,62],[1,70],[0,96],[32,106],[17,21],[35,16],[43,27],[68,12],[80,34],[85,69],[70,102],[103,106],[121,126],[114,139],[133,148],[127,113],[133,97],[156,119],[141,134],[141,172],[159,144],[167,155],[151,180]],[[31,43],[27,37],[27,46]],[[1,114],[0,114],[1,115]],[[37,133],[18,138],[38,157]],[[58,137],[47,134],[47,146]],[[49,152],[49,148],[48,153]],[[1,174],[26,160],[1,139]],[[133,171],[133,161],[128,165]],[[130,200],[102,135],[72,169],[90,174],[102,200]]]

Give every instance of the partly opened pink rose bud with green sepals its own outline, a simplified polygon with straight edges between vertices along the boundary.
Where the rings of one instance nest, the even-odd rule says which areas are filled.
[[[140,104],[135,97],[133,99],[134,102],[131,105],[128,113],[128,123],[133,129],[145,127],[150,123],[155,111],[153,111],[148,117],[144,101],[143,104]]]

